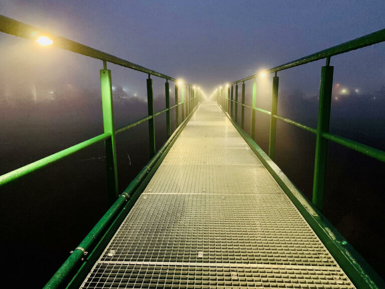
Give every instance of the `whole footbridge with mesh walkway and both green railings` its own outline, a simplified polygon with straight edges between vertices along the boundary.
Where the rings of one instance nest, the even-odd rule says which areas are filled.
[[[256,107],[256,77],[202,90],[129,61],[1,16],[0,31],[101,60],[104,133],[0,177],[0,185],[104,141],[110,209],[74,248],[46,288],[380,288],[383,280],[322,215],[328,141],[385,161],[385,153],[330,134],[333,67],[337,54],[385,41],[381,30],[267,71],[274,74],[272,109]],[[325,59],[320,69],[317,127],[277,115],[278,76],[284,69]],[[148,75],[148,116],[116,129],[114,63]],[[165,80],[164,110],[155,112],[152,78]],[[245,81],[253,80],[253,104]],[[170,105],[170,83],[175,105]],[[238,99],[238,83],[242,96]],[[171,130],[170,111],[176,129]],[[244,128],[252,112],[251,131]],[[168,139],[155,150],[154,119],[166,114]],[[255,114],[270,115],[266,154],[254,141]],[[313,199],[308,200],[274,163],[276,121],[316,134]],[[124,190],[117,186],[115,136],[148,123],[151,160]],[[146,148],[147,149],[147,148]],[[85,232],[86,233],[86,232]]]

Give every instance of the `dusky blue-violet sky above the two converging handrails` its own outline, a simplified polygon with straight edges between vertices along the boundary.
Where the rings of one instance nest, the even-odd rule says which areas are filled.
[[[383,0],[3,0],[0,14],[200,84],[207,93],[261,68],[385,28]],[[385,47],[363,51],[343,58],[341,69],[356,84],[362,69],[370,67],[362,85],[380,86],[385,80]],[[332,65],[338,63],[334,59]],[[304,77],[310,74],[314,84],[319,83],[321,65],[323,61],[319,69],[304,68]],[[291,82],[304,81],[291,77]]]

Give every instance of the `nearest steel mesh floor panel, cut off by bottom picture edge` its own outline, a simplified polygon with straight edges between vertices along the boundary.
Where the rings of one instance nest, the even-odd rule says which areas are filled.
[[[83,288],[354,288],[339,268],[98,263]]]

